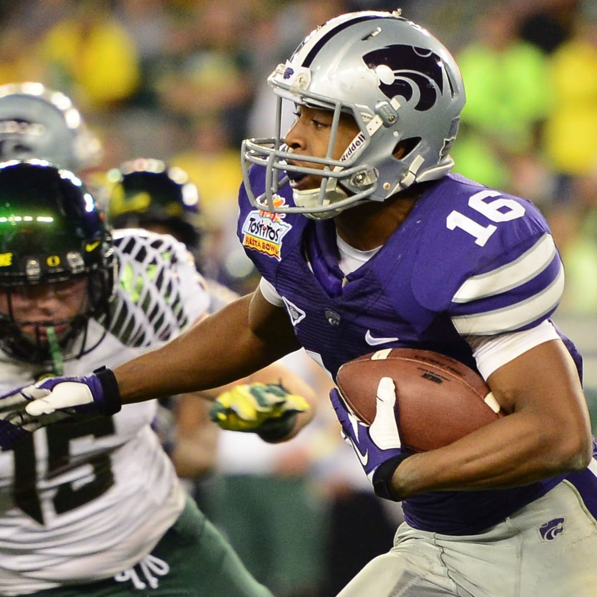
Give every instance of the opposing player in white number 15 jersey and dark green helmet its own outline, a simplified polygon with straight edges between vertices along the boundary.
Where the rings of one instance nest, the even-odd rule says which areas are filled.
[[[4,162],[0,196],[0,392],[118,365],[207,309],[184,245],[112,239],[69,171]],[[186,496],[155,411],[59,423],[0,453],[0,595],[270,595]]]

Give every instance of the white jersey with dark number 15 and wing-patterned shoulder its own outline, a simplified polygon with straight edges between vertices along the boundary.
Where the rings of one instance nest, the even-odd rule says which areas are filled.
[[[116,233],[119,288],[110,331],[64,375],[115,367],[176,336],[209,298],[184,245],[144,230]],[[91,336],[104,329],[90,322]],[[0,352],[0,393],[39,367]],[[112,417],[46,427],[0,453],[0,595],[107,578],[149,553],[184,506],[150,423],[156,401]]]

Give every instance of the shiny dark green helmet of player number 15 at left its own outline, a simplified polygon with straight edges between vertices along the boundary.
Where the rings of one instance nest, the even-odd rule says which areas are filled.
[[[2,350],[21,361],[50,365],[90,352],[104,333],[91,338],[89,322],[107,324],[115,280],[109,227],[81,180],[43,160],[0,163]],[[31,297],[44,285],[54,285],[56,292],[75,281],[84,281],[87,289],[75,315],[41,317],[36,308],[33,317],[15,316],[19,293],[37,300]]]

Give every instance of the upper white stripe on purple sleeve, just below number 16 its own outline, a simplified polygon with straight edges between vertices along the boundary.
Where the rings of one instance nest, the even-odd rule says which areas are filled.
[[[505,293],[540,274],[552,262],[556,247],[552,236],[545,234],[518,259],[491,272],[472,276],[458,288],[453,303],[468,303]]]

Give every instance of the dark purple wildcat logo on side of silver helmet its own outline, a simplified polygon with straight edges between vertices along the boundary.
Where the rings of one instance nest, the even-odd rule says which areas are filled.
[[[380,90],[391,100],[402,96],[410,101],[418,88],[416,110],[429,110],[444,91],[444,65],[431,50],[412,45],[389,45],[363,56],[379,80]]]

